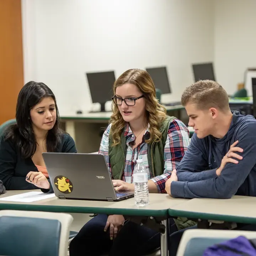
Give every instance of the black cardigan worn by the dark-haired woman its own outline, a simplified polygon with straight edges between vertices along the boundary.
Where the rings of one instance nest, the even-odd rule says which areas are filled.
[[[62,134],[61,139],[62,142],[59,143],[56,153],[77,152],[75,142],[69,134]],[[10,139],[5,140],[2,136],[0,139],[0,180],[6,190],[38,189],[26,181],[26,176],[30,171],[38,171],[32,159],[22,158],[17,145]]]

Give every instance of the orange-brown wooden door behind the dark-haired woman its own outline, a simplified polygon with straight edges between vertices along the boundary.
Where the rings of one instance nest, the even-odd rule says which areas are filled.
[[[0,124],[15,118],[22,86],[21,0],[0,0]]]

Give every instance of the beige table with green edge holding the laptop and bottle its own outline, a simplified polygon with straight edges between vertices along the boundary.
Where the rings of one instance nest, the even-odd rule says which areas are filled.
[[[40,190],[12,190],[0,195],[0,198],[12,196],[15,194],[26,193]],[[31,210],[43,212],[64,212],[64,213],[103,213],[103,214],[120,214],[126,216],[148,216],[159,217],[162,219],[161,224],[165,227],[168,225],[168,210],[188,201],[188,199],[172,198],[167,194],[149,194],[150,203],[138,208],[134,204],[134,198],[129,198],[119,202],[107,201],[88,201],[88,200],[71,200],[59,199],[52,197],[31,203],[0,201],[0,210]],[[161,255],[168,255],[167,232],[161,233]]]

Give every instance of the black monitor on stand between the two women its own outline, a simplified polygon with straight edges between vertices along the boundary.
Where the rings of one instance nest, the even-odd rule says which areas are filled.
[[[92,103],[100,103],[101,112],[105,112],[105,103],[111,101],[113,84],[116,80],[114,71],[86,73]]]

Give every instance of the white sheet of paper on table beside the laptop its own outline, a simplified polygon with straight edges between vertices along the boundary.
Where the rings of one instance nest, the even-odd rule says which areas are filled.
[[[31,192],[17,194],[9,197],[3,197],[3,198],[0,197],[0,200],[30,203],[30,202],[39,201],[42,199],[51,198],[51,197],[55,197],[55,194],[54,193],[46,194],[40,191],[31,191]]]

